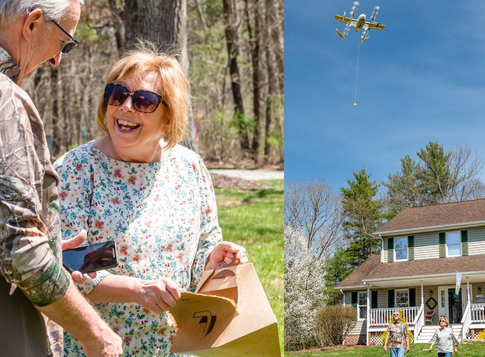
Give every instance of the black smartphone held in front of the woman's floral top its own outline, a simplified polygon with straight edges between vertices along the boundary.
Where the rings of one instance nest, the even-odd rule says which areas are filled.
[[[64,250],[62,261],[67,270],[90,273],[118,265],[118,254],[114,241],[95,243],[75,249]]]

